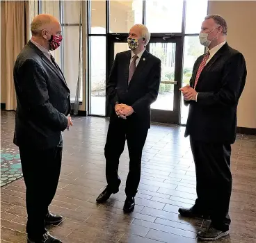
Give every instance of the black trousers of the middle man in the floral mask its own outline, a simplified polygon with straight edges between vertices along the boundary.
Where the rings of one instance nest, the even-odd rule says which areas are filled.
[[[147,138],[147,126],[139,126],[133,121],[119,118],[111,121],[106,137],[106,181],[107,187],[115,193],[118,192],[119,158],[125,148],[125,140],[129,150],[129,174],[127,176],[125,193],[135,196],[141,179],[141,156]]]

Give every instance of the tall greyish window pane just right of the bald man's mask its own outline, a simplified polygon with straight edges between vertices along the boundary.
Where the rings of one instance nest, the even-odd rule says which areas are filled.
[[[79,26],[63,27],[63,64],[65,79],[70,88],[70,99],[74,102],[79,75]],[[83,90],[82,83],[81,81],[80,91]],[[82,92],[80,96],[79,100],[82,101]]]

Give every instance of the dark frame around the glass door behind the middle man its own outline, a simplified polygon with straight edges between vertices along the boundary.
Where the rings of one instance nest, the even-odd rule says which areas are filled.
[[[127,34],[115,33],[109,34],[106,37],[106,77],[109,77],[114,56],[115,43],[126,43]],[[146,46],[146,50],[150,51],[150,43],[175,43],[175,81],[177,84],[174,85],[174,99],[173,99],[173,110],[156,110],[151,109],[151,121],[167,124],[179,124],[180,123],[180,112],[181,112],[181,93],[179,88],[182,87],[182,56],[183,56],[183,37],[182,35],[175,34],[157,34],[150,38],[150,42]],[[128,50],[128,46],[127,46]],[[106,99],[106,117],[109,117],[111,111],[111,105],[108,99]]]

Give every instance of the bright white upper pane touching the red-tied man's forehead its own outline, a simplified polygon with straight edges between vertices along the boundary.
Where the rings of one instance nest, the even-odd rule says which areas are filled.
[[[185,33],[200,33],[201,24],[207,15],[207,0],[186,1],[186,28]],[[195,14],[196,12],[196,14]]]

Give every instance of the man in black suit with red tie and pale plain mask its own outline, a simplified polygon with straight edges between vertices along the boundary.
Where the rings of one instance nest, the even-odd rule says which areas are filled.
[[[190,85],[183,87],[190,104],[185,136],[190,135],[198,198],[192,208],[179,208],[184,217],[206,217],[211,224],[201,240],[229,234],[232,191],[231,144],[237,128],[237,105],[246,83],[243,55],[225,42],[227,24],[218,15],[202,22],[201,44],[209,51],[195,61]]]

